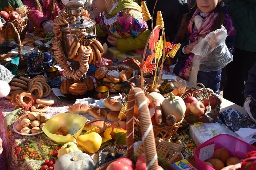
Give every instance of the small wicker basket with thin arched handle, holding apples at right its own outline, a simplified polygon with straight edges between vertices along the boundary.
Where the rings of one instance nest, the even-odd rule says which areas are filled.
[[[204,90],[196,89],[197,85],[201,85]],[[201,84],[201,83],[197,83],[193,87],[191,87],[190,89],[184,91],[184,93],[182,94],[181,98],[185,99],[188,96],[194,96],[198,101],[201,101],[203,103],[205,97],[207,97],[208,106],[210,106],[209,95],[210,94],[207,93],[207,90],[206,90],[205,86],[203,84]],[[211,108],[211,111],[208,114],[208,117],[206,116],[206,114],[203,115],[203,116],[198,116],[198,115],[195,115],[195,114],[189,112],[189,113],[185,113],[185,118],[184,119],[188,123],[212,122],[218,116],[219,111],[220,111],[220,105],[218,103],[215,108]]]

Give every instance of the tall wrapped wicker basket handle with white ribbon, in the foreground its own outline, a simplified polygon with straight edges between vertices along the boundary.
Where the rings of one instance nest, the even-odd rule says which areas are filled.
[[[141,88],[135,87],[130,89],[128,95],[128,106],[127,106],[127,156],[133,156],[133,133],[134,133],[134,106],[135,100],[138,105],[140,120],[141,120],[141,130],[142,130],[142,141],[146,157],[147,168],[154,170],[158,168],[155,136],[153,132],[153,125],[151,122],[150,113],[147,106],[146,96]]]

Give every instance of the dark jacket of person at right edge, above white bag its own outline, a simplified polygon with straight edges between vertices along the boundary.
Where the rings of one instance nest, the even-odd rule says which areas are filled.
[[[244,88],[244,97],[251,95],[256,99],[256,63],[248,72],[248,80]]]

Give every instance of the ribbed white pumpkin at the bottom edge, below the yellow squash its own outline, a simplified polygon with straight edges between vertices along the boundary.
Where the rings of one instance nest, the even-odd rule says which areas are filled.
[[[91,156],[81,151],[60,156],[54,166],[55,170],[94,170],[95,168]]]

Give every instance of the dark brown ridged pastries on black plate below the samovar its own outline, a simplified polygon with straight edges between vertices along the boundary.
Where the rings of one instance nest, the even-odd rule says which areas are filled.
[[[87,91],[92,91],[94,89],[94,83],[91,78],[86,78],[83,82],[64,80],[60,86],[60,92],[63,95],[84,95]]]

